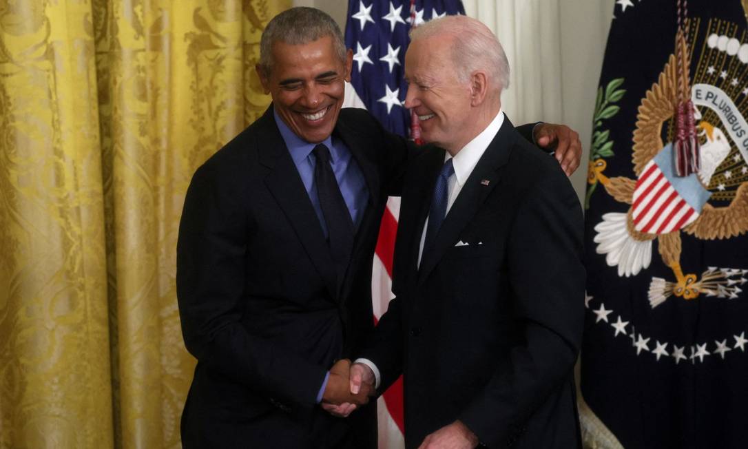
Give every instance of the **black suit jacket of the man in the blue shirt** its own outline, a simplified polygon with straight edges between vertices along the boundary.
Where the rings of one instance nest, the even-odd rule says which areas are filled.
[[[328,368],[373,327],[372,256],[406,146],[361,109],[343,109],[334,135],[370,194],[343,277],[272,107],[194,174],[177,243],[183,335],[197,358],[186,448],[319,448],[350,426],[360,426],[350,445],[375,446],[374,406],[346,421],[316,396]]]

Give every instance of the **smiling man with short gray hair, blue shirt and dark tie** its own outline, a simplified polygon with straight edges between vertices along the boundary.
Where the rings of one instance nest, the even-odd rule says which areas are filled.
[[[413,152],[341,109],[352,52],[327,14],[286,10],[260,48],[272,106],[197,169],[180,223],[183,446],[374,448],[373,406],[340,418],[368,399],[343,358],[373,329],[379,222]]]

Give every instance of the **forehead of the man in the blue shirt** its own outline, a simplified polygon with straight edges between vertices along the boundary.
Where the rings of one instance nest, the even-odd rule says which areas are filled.
[[[329,36],[300,44],[279,40],[272,45],[272,55],[272,74],[279,77],[313,76],[329,70],[339,71],[343,66]]]

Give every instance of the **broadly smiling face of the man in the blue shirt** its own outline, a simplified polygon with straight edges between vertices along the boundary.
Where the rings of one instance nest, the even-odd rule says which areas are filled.
[[[299,137],[319,143],[332,133],[343,106],[352,52],[340,61],[332,37],[310,43],[272,45],[272,69],[257,74],[283,122]]]

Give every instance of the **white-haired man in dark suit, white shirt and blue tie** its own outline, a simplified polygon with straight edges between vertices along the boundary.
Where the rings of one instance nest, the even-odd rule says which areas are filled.
[[[509,64],[481,22],[416,28],[405,106],[432,146],[408,167],[387,313],[351,389],[404,375],[408,448],[579,448],[582,212],[501,111]]]

